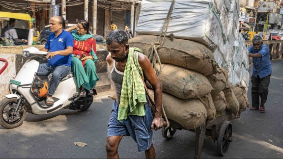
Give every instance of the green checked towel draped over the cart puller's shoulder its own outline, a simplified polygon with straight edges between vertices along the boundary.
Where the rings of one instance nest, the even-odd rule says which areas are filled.
[[[127,64],[124,71],[122,83],[120,105],[118,111],[118,120],[127,119],[128,115],[145,115],[144,102],[146,102],[142,67],[138,61],[138,53],[142,50],[139,48],[129,48]],[[133,53],[135,56],[133,58]]]

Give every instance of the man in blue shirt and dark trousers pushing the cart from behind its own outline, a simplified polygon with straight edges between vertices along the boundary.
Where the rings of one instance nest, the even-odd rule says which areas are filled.
[[[263,44],[262,38],[255,36],[253,46],[248,48],[249,57],[253,57],[252,107],[250,110],[265,112],[265,103],[268,95],[268,86],[272,72],[269,48]],[[260,103],[259,103],[260,97]]]

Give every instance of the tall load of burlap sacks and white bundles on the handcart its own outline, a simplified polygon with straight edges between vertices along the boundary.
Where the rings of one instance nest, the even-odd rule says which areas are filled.
[[[139,36],[129,41],[130,47],[140,48],[146,55],[158,45],[156,42],[171,5],[171,0],[155,1],[142,1],[136,28]],[[233,88],[237,96],[246,100],[240,102],[241,110],[247,106],[243,93],[246,87],[230,82],[231,71],[225,59],[225,49],[230,49],[226,45],[230,42],[228,35],[237,27],[232,23],[232,28],[227,27],[231,9],[234,13],[237,8],[236,1],[175,0],[167,32],[168,35],[173,33],[174,38],[161,37],[164,43],[157,46],[161,66],[156,64],[155,69],[162,85],[166,115],[185,129],[195,129],[206,119],[213,120],[216,111],[226,108],[237,114],[240,104]],[[236,48],[234,44],[229,46]],[[233,49],[229,51],[235,53]],[[147,87],[151,85],[147,83]],[[149,95],[153,97],[152,90]]]

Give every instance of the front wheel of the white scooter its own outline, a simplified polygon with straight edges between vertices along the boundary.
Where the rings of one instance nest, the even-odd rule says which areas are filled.
[[[18,113],[13,114],[18,100],[17,98],[4,98],[0,102],[0,125],[7,129],[17,128],[23,124],[27,110],[24,106],[19,107]]]

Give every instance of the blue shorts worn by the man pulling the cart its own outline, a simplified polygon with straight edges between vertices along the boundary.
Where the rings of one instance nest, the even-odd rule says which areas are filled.
[[[116,101],[113,104],[113,111],[108,123],[109,136],[127,135],[132,136],[138,145],[138,151],[142,152],[148,150],[152,144],[152,113],[149,102],[144,104],[145,116],[129,115],[127,119],[119,122],[118,106]]]

